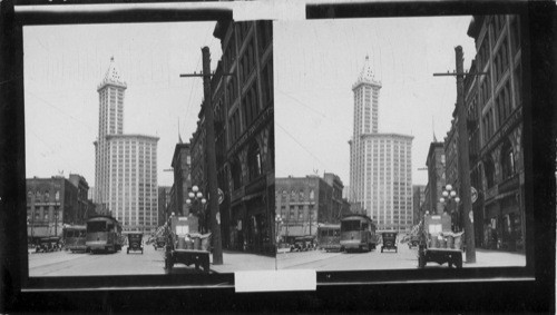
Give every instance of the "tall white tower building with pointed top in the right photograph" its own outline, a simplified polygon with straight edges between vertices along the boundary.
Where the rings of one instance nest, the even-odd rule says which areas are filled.
[[[380,230],[412,226],[412,136],[379,134],[379,90],[369,57],[352,86],[354,130],[350,144],[349,200]]]

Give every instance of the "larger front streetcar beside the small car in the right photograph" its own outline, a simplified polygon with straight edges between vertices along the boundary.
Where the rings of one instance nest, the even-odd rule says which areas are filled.
[[[378,237],[375,224],[365,215],[349,215],[341,220],[341,252],[371,252]]]

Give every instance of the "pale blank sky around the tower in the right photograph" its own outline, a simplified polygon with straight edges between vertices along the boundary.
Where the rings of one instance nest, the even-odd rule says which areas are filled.
[[[461,46],[476,56],[471,17],[373,18],[274,23],[275,176],[323,173],[350,183],[352,85],[369,56],[379,96],[379,132],[413,136],[412,183],[426,185],[429,145],[450,129]]]

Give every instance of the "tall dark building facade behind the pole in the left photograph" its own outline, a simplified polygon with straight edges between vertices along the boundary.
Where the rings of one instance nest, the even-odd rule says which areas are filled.
[[[223,49],[211,81],[223,248],[274,255],[272,22],[219,21],[214,36]],[[190,139],[192,184],[205,193],[203,110],[198,117]]]

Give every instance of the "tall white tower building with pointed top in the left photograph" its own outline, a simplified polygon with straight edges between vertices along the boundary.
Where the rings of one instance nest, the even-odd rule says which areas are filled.
[[[99,93],[99,135],[95,141],[95,203],[125,230],[157,226],[157,137],[124,135],[124,92],[127,86],[114,58]]]

